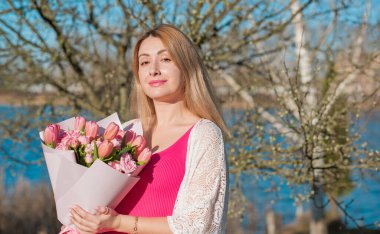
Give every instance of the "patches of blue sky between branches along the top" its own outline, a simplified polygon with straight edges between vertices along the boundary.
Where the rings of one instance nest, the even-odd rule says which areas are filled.
[[[113,1],[115,1],[115,0],[113,0]],[[113,1],[110,1],[110,2],[113,2]],[[281,6],[286,5],[289,1],[290,0],[281,1],[281,2],[275,2],[274,1],[274,2],[270,2],[268,4],[271,8],[279,8]],[[15,2],[15,4],[17,4],[17,2]],[[80,0],[78,2],[77,1],[65,1],[64,3],[65,3],[66,8],[74,7],[79,13],[81,13],[83,15],[87,14],[86,13],[87,10],[85,7],[85,1]],[[125,0],[124,2],[127,6],[133,6],[133,7],[141,9],[141,4],[136,4],[135,1]],[[257,0],[246,1],[246,4],[249,5],[249,4],[254,4],[256,2],[257,2]],[[306,0],[300,0],[300,2],[301,3],[306,2]],[[313,12],[325,11],[329,8],[331,2],[340,2],[340,1],[320,0],[320,1],[318,1],[318,3],[311,4],[308,7],[308,9],[305,11],[305,15],[307,16],[307,15],[313,14]],[[356,0],[356,1],[353,0],[353,1],[347,1],[347,2],[352,2],[352,4],[349,5],[348,9],[342,11],[341,15],[340,15],[340,21],[341,21],[341,23],[344,24],[344,28],[338,28],[337,29],[338,31],[340,31],[339,33],[342,35],[352,33],[349,30],[349,28],[351,26],[356,27],[359,23],[361,23],[361,18],[362,18],[363,12],[365,10],[365,3],[366,3],[365,0]],[[98,5],[96,5],[96,6],[98,6],[98,7],[101,6],[101,5],[99,5],[101,3],[105,3],[105,1],[97,1],[96,4],[98,4]],[[264,7],[264,6],[265,5],[262,5],[262,7]],[[186,18],[184,16],[185,15],[184,13],[186,12],[186,7],[187,7],[186,4],[180,4],[179,5],[179,11],[180,12],[177,12],[175,14],[177,20],[182,21],[182,22],[184,20],[186,20]],[[3,9],[7,9],[7,8],[9,8],[9,7],[7,7],[7,4],[5,4],[5,3],[0,4],[0,11]],[[171,20],[173,18],[173,14],[174,14],[174,4],[172,3],[172,1],[165,1],[163,6],[162,6],[162,9],[163,9],[163,14],[167,15],[166,19]],[[220,10],[220,9],[221,9],[221,5],[218,5],[217,10]],[[204,11],[205,11],[205,9],[203,9],[203,12]],[[369,14],[370,25],[380,24],[380,14],[378,12],[380,12],[380,0],[371,0],[371,10],[370,10],[370,14]],[[255,10],[255,12],[253,13],[253,16],[254,17],[260,17],[264,13],[265,12],[260,12],[260,8],[259,8],[259,9]],[[41,21],[37,19],[38,18],[37,13],[35,13],[35,12],[30,13],[29,12],[25,15],[28,19],[35,20],[36,25],[38,26],[39,32],[41,33],[41,35],[45,39],[47,39],[47,42],[50,45],[56,45],[55,33],[53,33],[50,29],[48,29],[47,26],[43,26],[43,24],[41,24]],[[123,22],[120,20],[122,18],[121,15],[122,15],[122,12],[120,9],[109,10],[105,14],[103,14],[101,17],[99,17],[99,21],[104,26],[109,26],[109,27],[112,27],[114,29],[118,29],[121,31],[121,30],[123,30]],[[326,24],[328,24],[328,22],[331,21],[332,15],[333,15],[332,13],[322,14],[322,15],[314,18],[313,20],[310,20],[308,22],[308,24],[310,27],[315,27],[315,26],[319,27],[323,24],[326,25]],[[289,17],[289,14],[287,14],[287,13],[282,14],[281,16],[279,16],[277,18],[272,18],[271,20],[273,20],[273,21],[285,20],[286,17]],[[37,37],[34,35],[34,33],[31,32],[31,30],[25,24],[18,24],[17,23],[17,18],[16,18],[14,13],[6,14],[6,15],[0,15],[0,18],[3,19],[7,23],[16,25],[16,28],[21,28],[23,34],[28,39],[32,39],[33,41],[38,42]],[[228,17],[226,17],[225,20],[226,19],[228,19]],[[72,25],[73,20],[70,17],[66,16],[66,17],[60,17],[60,22],[62,23],[62,25],[65,25],[65,27],[64,27],[65,30],[70,30],[70,25]],[[85,27],[84,23],[76,22],[76,24],[78,25],[78,27],[74,31],[72,31],[71,33],[77,33],[80,35],[88,34],[89,29],[88,29],[88,27]],[[93,29],[91,29],[91,30],[93,30]],[[371,32],[371,33],[373,33],[373,32]],[[343,39],[344,39],[344,37],[343,37]],[[99,42],[99,44],[101,44],[101,43]],[[4,48],[5,46],[6,45],[4,45],[4,41],[2,41],[2,38],[0,36],[0,47]]]

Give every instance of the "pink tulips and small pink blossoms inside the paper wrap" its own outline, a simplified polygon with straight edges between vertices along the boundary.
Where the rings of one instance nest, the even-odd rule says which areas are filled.
[[[130,174],[137,166],[147,163],[151,156],[143,136],[131,130],[124,131],[115,122],[110,122],[101,135],[99,125],[82,116],[75,117],[73,129],[61,129],[59,124],[48,125],[43,137],[45,145],[51,148],[73,150],[76,162],[86,167],[99,159]]]

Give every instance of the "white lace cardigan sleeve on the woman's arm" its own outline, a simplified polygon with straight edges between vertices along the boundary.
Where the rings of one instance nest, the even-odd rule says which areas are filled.
[[[186,172],[173,215],[173,233],[224,232],[227,210],[227,179],[221,130],[201,120],[190,133]]]

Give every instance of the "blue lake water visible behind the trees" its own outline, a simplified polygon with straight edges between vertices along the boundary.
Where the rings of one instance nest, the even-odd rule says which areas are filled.
[[[7,123],[7,125],[23,124],[18,123],[19,120],[15,118],[15,113],[26,114],[26,110],[20,107],[0,106],[1,123]],[[62,117],[52,121],[60,121],[65,118]],[[3,135],[2,131],[3,129],[0,128],[1,135]],[[42,160],[38,131],[38,129],[27,128],[20,133],[20,139],[3,138],[0,140],[0,169],[5,175],[3,179],[6,190],[11,191],[12,186],[20,178],[24,178],[30,183],[49,183],[47,168]],[[377,139],[380,137],[380,113],[369,118],[367,131],[363,133],[362,137],[370,147],[379,148],[380,143]],[[23,140],[28,138],[33,140],[29,142]],[[20,163],[15,163],[15,161]],[[24,161],[28,164],[23,164]],[[29,164],[30,162],[36,164]],[[340,201],[347,204],[353,200],[347,209],[353,217],[363,219],[363,221],[358,220],[358,223],[372,224],[380,221],[379,173],[375,173],[372,177],[367,176],[364,180],[354,173],[352,179],[356,182],[356,188],[347,196],[341,197]],[[281,214],[282,222],[285,224],[294,220],[295,201],[290,199],[289,196],[294,188],[287,187],[285,183],[282,183],[281,178],[271,177],[263,180],[255,175],[242,175],[241,180],[244,195],[253,204],[256,211],[255,233],[263,233],[264,215],[267,208]],[[295,189],[307,188],[300,186]],[[308,204],[304,204],[304,208],[307,209]],[[245,220],[246,225],[248,219]],[[352,223],[350,225],[352,226]],[[374,226],[369,227],[375,228]]]

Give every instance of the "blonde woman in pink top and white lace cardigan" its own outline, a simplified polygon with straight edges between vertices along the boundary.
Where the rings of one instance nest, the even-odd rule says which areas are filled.
[[[133,54],[135,103],[153,155],[116,210],[71,209],[81,233],[221,233],[227,214],[227,132],[196,46],[171,25]]]

